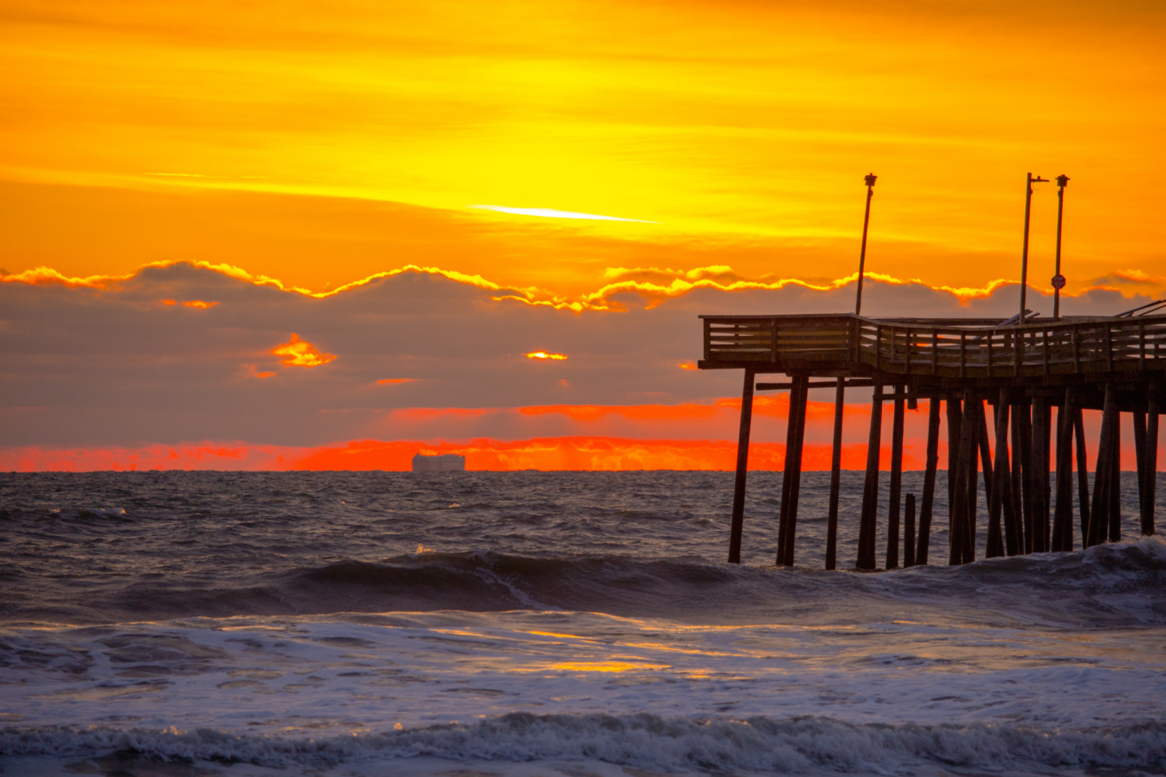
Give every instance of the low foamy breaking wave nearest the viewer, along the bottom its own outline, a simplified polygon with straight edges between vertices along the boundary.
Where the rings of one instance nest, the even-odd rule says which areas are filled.
[[[999,771],[1034,765],[1161,769],[1166,723],[1044,730],[1009,726],[856,725],[820,716],[693,720],[511,713],[444,725],[321,739],[213,729],[115,730],[13,727],[0,754],[89,756],[129,750],[166,760],[329,768],[368,758],[598,760],[661,771],[886,771],[926,764]]]

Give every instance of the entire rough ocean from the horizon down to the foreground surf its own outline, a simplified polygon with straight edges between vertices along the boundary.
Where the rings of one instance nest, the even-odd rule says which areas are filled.
[[[1132,473],[1124,542],[950,567],[941,472],[856,573],[862,476],[826,572],[829,473],[792,568],[780,473],[740,565],[732,473],[0,474],[0,774],[1166,774]]]

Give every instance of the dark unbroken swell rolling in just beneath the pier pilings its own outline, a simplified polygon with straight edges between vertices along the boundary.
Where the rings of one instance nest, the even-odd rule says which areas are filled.
[[[863,623],[915,609],[1002,624],[1144,626],[1166,622],[1166,543],[1144,537],[874,575],[700,558],[426,552],[289,571],[278,587],[285,599],[359,602],[364,612],[562,609],[731,623],[806,622],[829,609],[834,622]]]

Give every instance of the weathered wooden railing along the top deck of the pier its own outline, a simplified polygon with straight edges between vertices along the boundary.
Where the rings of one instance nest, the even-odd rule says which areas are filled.
[[[702,368],[852,369],[941,377],[1016,377],[1166,366],[1166,316],[872,319],[852,315],[702,316]],[[758,363],[768,362],[768,363]]]

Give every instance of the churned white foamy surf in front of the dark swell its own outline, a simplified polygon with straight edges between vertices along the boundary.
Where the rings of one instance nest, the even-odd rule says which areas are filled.
[[[445,612],[9,628],[0,642],[13,756],[1166,764],[1157,630]]]

